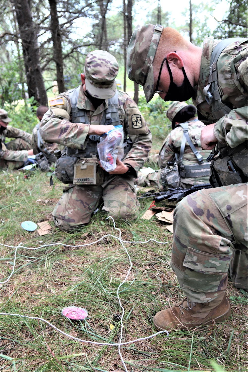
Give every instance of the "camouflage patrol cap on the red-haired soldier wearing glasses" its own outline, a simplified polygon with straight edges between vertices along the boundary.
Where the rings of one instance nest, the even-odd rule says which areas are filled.
[[[146,102],[154,96],[152,62],[163,28],[161,25],[136,26],[128,45],[128,77],[143,86]]]

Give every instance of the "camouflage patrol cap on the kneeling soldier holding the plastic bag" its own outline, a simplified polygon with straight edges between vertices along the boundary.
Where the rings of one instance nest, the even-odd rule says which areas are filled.
[[[115,78],[119,66],[115,57],[104,50],[95,50],[86,56],[85,86],[92,97],[108,99],[116,93]]]

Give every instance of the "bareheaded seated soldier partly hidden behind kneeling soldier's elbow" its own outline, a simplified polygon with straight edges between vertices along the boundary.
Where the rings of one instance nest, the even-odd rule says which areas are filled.
[[[36,116],[39,121],[42,120],[44,114],[48,111],[48,106],[39,106],[36,110]],[[41,138],[39,132],[39,123],[33,128],[32,137],[31,137],[31,146],[33,149],[33,154],[36,155],[36,161],[39,164],[39,167],[43,171],[49,171],[52,163],[57,161],[57,158],[54,155],[55,150],[63,150],[64,146],[57,143],[45,142]]]

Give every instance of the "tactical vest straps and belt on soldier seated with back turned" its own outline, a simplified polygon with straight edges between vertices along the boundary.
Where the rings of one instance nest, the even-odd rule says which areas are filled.
[[[197,120],[198,119],[195,119],[195,121],[197,121]],[[176,154],[176,162],[179,166],[178,171],[179,171],[180,177],[182,177],[182,178],[191,178],[191,177],[192,178],[197,178],[197,177],[209,176],[210,163],[206,163],[206,162],[203,163],[202,155],[194,147],[194,144],[191,141],[190,136],[189,136],[189,123],[188,122],[180,123],[179,125],[183,128],[183,140],[182,140],[182,143],[181,143],[179,157],[178,157],[178,154]],[[186,141],[190,145],[190,148],[193,151],[193,153],[195,154],[195,156],[198,160],[198,164],[184,165],[182,163]]]

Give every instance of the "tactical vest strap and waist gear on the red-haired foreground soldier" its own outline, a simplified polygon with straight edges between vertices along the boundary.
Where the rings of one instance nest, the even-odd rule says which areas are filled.
[[[203,89],[207,103],[211,106],[215,122],[227,115],[232,109],[221,102],[221,87],[218,86],[218,58],[226,47],[235,41],[247,41],[247,38],[233,38],[220,41],[212,52],[210,60],[209,80]],[[235,148],[226,146],[219,153],[217,148],[212,150],[207,161],[211,161],[210,183],[213,187],[232,185],[248,181],[248,151],[247,141]],[[214,158],[214,160],[213,160]]]

